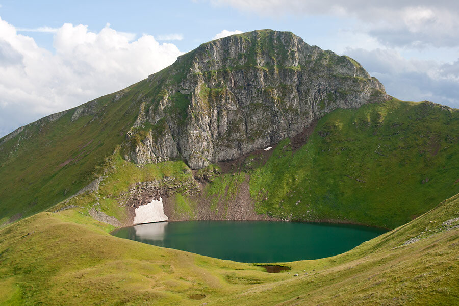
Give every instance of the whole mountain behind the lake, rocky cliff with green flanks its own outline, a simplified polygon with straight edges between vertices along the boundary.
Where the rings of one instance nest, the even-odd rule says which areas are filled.
[[[142,202],[146,191],[167,189],[172,220],[265,216],[395,227],[459,192],[457,120],[455,109],[388,96],[354,60],[290,32],[233,35],[0,139],[0,224],[124,171],[123,184],[95,188],[106,194],[87,205],[125,219],[109,198]],[[279,142],[276,158],[256,151]],[[164,161],[180,173],[157,167],[146,180],[130,166]],[[240,198],[250,216],[228,213]]]

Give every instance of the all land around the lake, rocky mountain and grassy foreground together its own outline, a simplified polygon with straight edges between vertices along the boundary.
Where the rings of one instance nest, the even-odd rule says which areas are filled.
[[[459,110],[290,32],[207,42],[0,139],[0,304],[457,304],[458,169]],[[109,234],[157,197],[172,221],[394,230],[270,274]]]

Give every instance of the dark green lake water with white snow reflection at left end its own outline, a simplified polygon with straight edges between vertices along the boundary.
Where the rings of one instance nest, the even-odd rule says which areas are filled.
[[[343,253],[387,232],[329,223],[183,221],[124,227],[116,237],[238,262],[287,262]]]

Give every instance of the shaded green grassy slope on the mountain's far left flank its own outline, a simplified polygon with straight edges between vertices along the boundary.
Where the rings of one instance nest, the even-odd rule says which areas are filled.
[[[43,211],[93,180],[97,166],[125,139],[139,111],[137,99],[150,90],[146,81],[139,82],[119,100],[116,93],[98,98],[94,114],[71,121],[71,109],[56,121],[29,124],[4,143],[0,225],[18,213]]]

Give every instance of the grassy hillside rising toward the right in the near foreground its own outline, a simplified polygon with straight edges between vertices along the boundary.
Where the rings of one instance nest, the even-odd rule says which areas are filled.
[[[455,195],[412,222],[344,254],[291,263],[292,273],[299,271],[299,277],[257,286],[216,303],[456,305],[458,208],[459,195]],[[447,220],[454,221],[447,226],[443,223]],[[447,230],[453,226],[455,229]],[[403,245],[415,237],[422,239]]]

